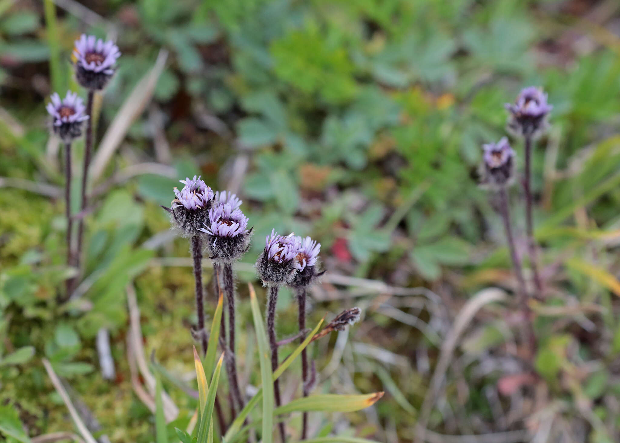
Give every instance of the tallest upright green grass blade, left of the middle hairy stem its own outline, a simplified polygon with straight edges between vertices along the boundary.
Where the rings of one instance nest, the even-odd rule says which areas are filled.
[[[267,344],[267,335],[263,327],[263,319],[260,316],[259,302],[256,300],[254,287],[250,287],[250,306],[252,307],[252,317],[254,317],[254,329],[256,329],[256,339],[259,344],[260,379],[263,385],[263,443],[272,443],[273,434],[273,377],[272,367]]]

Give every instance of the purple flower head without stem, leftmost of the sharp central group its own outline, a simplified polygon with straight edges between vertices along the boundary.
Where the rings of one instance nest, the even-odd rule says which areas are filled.
[[[184,237],[200,235],[203,226],[209,224],[209,208],[213,200],[213,190],[206,186],[200,177],[187,177],[180,180],[185,186],[179,190],[174,188],[176,198],[172,200],[172,208],[162,206],[172,216],[172,223]]]

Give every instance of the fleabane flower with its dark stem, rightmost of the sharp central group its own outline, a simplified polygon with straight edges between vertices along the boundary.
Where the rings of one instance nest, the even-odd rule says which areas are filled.
[[[321,243],[317,243],[316,240],[312,240],[310,237],[302,238],[301,236],[296,236],[295,241],[301,251],[294,258],[297,272],[294,274],[290,286],[295,290],[297,296],[299,339],[303,342],[306,338],[306,334],[304,334],[306,329],[306,298],[308,297],[306,289],[325,271],[319,272],[317,269],[317,259],[319,252],[321,252]],[[308,379],[308,370],[308,352],[304,349],[301,352],[301,388],[304,397],[308,396],[312,384],[309,383],[312,380]],[[303,413],[301,423],[301,439],[304,440],[308,434],[308,413]]]

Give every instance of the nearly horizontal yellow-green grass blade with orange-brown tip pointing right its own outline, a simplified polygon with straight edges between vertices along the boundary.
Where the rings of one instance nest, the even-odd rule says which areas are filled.
[[[354,412],[374,405],[381,397],[383,397],[383,392],[375,392],[366,395],[311,395],[309,397],[296,398],[290,403],[276,408],[273,414],[280,415],[304,411]]]

